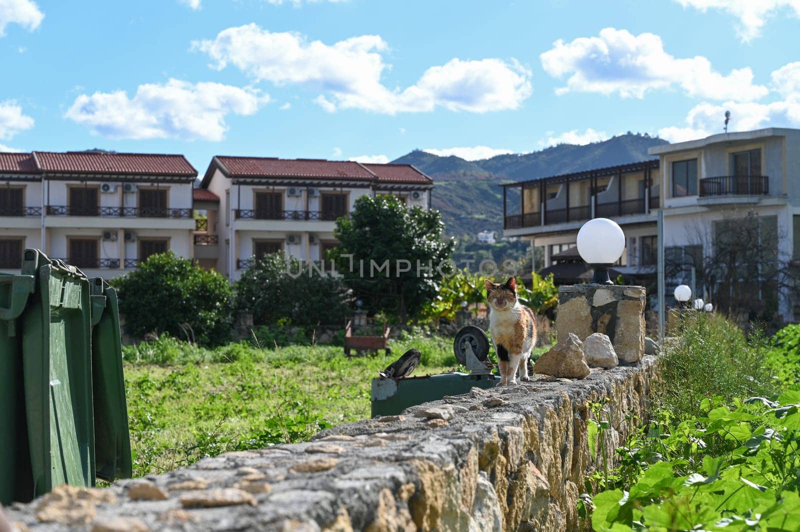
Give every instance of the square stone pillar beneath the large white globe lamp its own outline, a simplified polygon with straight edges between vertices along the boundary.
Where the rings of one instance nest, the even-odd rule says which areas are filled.
[[[571,332],[585,340],[594,332],[602,332],[610,338],[620,360],[637,362],[645,351],[645,304],[646,290],[641,286],[558,287],[558,338]]]

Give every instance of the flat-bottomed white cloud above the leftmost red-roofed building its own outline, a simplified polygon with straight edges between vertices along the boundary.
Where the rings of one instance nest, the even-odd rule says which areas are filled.
[[[221,141],[230,113],[250,115],[269,97],[254,89],[170,79],[123,90],[78,96],[66,117],[110,138],[178,138]]]

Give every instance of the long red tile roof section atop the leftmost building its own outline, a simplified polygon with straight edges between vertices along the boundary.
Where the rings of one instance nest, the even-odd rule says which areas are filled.
[[[45,172],[195,177],[182,155],[156,153],[34,152]]]

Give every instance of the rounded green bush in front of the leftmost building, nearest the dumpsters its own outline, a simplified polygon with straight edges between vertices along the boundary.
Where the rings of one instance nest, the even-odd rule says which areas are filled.
[[[207,345],[230,339],[233,289],[217,272],[166,252],[112,284],[131,335],[167,332]]]

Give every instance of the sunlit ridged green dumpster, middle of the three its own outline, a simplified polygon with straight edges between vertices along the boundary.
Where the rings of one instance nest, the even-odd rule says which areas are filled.
[[[23,259],[22,274],[35,277],[22,332],[34,496],[94,486],[89,280],[36,249]]]

